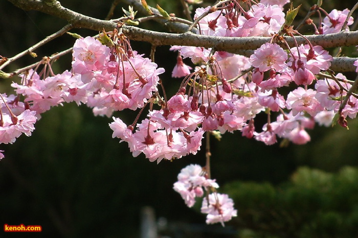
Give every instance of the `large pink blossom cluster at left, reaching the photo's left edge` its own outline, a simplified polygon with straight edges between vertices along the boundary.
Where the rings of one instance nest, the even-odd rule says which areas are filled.
[[[143,107],[158,91],[158,75],[164,69],[136,51],[124,52],[120,39],[118,42],[115,49],[93,37],[80,38],[73,47],[71,72],[54,75],[44,58],[51,76],[45,77],[46,67],[40,75],[32,69],[21,75],[21,83],[11,84],[17,96],[2,95],[0,142],[12,143],[21,133],[31,135],[41,113],[64,102],[84,103],[93,107],[94,114],[107,116],[125,108]]]

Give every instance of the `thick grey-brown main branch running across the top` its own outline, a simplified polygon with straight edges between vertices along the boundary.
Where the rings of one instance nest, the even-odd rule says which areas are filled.
[[[58,1],[27,1],[27,0],[8,0],[15,6],[24,10],[36,10],[47,13],[62,19],[67,20],[72,24],[73,28],[87,28],[96,31],[105,29],[112,31],[118,27],[117,23],[108,20],[100,20],[93,17],[85,16],[83,14],[74,12],[70,9],[64,8]],[[122,0],[122,2],[134,5],[136,8],[143,8],[138,0]],[[138,5],[138,6],[137,6]],[[156,9],[153,9],[156,11]],[[164,20],[164,19],[159,19]],[[183,26],[187,29],[188,26],[178,22],[169,22],[165,20],[164,23],[175,23],[176,26]],[[265,42],[269,42],[271,37],[217,37],[197,35],[191,32],[182,34],[154,32],[140,29],[138,27],[123,26],[123,33],[131,40],[146,41],[152,45],[186,45],[186,46],[202,46],[214,47],[216,51],[226,51],[237,53],[241,50],[256,50]],[[321,45],[322,47],[338,47],[358,44],[358,31],[354,32],[340,32],[327,35],[308,35],[306,36],[313,45]],[[305,43],[305,39],[301,36],[295,37],[298,44]],[[294,39],[292,37],[285,37],[290,47],[294,46]],[[352,66],[353,58],[335,58],[333,65],[337,71],[354,71]],[[337,61],[337,62],[336,62]],[[348,69],[349,68],[349,69]]]

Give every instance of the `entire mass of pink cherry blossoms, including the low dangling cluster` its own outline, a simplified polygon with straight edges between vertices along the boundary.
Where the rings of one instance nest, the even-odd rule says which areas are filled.
[[[157,163],[195,155],[202,146],[204,132],[219,138],[220,134],[238,130],[242,136],[266,145],[281,138],[303,145],[310,141],[308,129],[313,129],[316,122],[330,126],[335,114],[338,123],[347,127],[346,118],[358,113],[356,95],[347,97],[352,81],[341,73],[332,77],[321,74],[324,70],[331,74],[333,60],[322,46],[314,46],[305,37],[306,44],[286,44],[283,35],[300,34],[294,28],[282,27],[283,6],[289,1],[239,2],[218,1],[213,8],[196,8],[194,19],[204,14],[195,26],[196,34],[271,37],[250,58],[205,47],[174,45],[170,50],[177,51],[177,57],[171,76],[184,79],[173,95],[164,88],[158,90],[159,76],[165,70],[133,51],[129,38],[117,34],[120,27],[108,34],[101,32],[100,38],[77,39],[71,70],[54,74],[52,62],[43,60],[46,67],[36,67],[38,73],[30,69],[20,75],[20,82],[11,84],[15,95],[0,95],[0,143],[11,144],[23,133],[30,136],[41,113],[64,102],[86,104],[95,115],[107,117],[116,111],[141,109],[131,125],[118,117],[112,117],[108,125],[113,138],[127,142],[133,157],[143,156]],[[325,13],[322,8],[316,10]],[[326,13],[317,32],[340,32],[348,12]],[[352,23],[350,17],[348,26]],[[104,35],[112,46],[101,43]],[[196,64],[193,72],[183,58]],[[358,73],[358,60],[354,66]],[[50,70],[46,71],[47,67]],[[285,86],[289,87],[283,89]],[[262,130],[255,131],[255,121],[261,123],[255,117],[261,112],[267,114],[267,119]],[[178,174],[173,189],[188,207],[195,204],[196,198],[204,197],[200,210],[207,214],[206,222],[223,225],[237,216],[237,211],[228,195],[217,193],[219,186],[210,174],[209,163],[204,168],[190,164]]]

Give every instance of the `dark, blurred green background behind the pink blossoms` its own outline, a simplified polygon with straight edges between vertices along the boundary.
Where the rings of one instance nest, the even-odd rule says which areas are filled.
[[[60,2],[79,13],[104,18],[112,1]],[[182,16],[179,1],[147,2]],[[303,4],[300,13],[304,17],[316,2],[294,1],[294,5]],[[205,1],[203,6],[212,3]],[[324,1],[326,9],[343,10],[354,4]],[[118,17],[121,7],[127,8],[118,6]],[[1,1],[0,53],[13,56],[64,23]],[[155,22],[144,28],[165,31]],[[85,29],[73,32],[96,34]],[[36,53],[51,55],[74,41],[64,35]],[[149,55],[149,44],[131,43],[133,49]],[[343,54],[356,57],[349,48]],[[171,78],[175,57],[165,46],[155,55],[156,63],[167,69],[161,76],[164,84],[173,85],[168,94],[174,94],[180,85],[180,80]],[[31,60],[24,57],[12,67]],[[70,62],[70,55],[58,60],[55,73],[70,68]],[[10,90],[6,80],[0,81],[0,87],[2,92]],[[135,112],[118,115],[129,122]],[[143,156],[133,158],[126,144],[111,138],[110,122],[110,118],[94,117],[85,106],[65,104],[44,113],[31,137],[21,136],[13,145],[2,145],[6,158],[0,161],[0,223],[41,225],[43,231],[36,235],[42,237],[138,237],[141,209],[151,206],[157,218],[167,219],[161,234],[170,237],[358,237],[356,121],[350,122],[349,131],[316,127],[304,146],[267,147],[238,133],[227,133],[220,142],[212,140],[212,174],[219,183],[227,184],[222,190],[238,209],[238,217],[226,228],[204,225],[204,215],[188,209],[171,189],[184,166],[204,164],[203,151],[158,165]]]

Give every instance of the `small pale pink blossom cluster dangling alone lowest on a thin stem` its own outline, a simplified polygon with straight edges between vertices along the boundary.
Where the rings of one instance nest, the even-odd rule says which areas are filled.
[[[206,171],[198,164],[190,164],[182,169],[178,174],[178,181],[173,186],[188,207],[195,204],[196,197],[203,197],[204,191],[210,193],[218,187],[215,180],[207,178]],[[232,199],[226,194],[216,192],[210,193],[203,199],[201,211],[207,214],[207,224],[220,222],[223,226],[223,222],[237,216]]]

